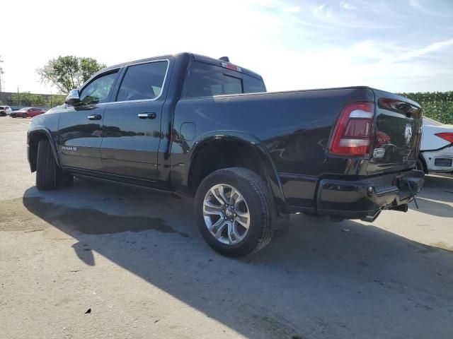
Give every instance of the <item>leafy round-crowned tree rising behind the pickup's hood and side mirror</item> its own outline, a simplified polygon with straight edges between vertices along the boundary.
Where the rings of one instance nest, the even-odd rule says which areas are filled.
[[[82,83],[104,67],[105,65],[99,64],[96,59],[69,55],[47,61],[47,64],[36,72],[43,83],[50,83],[60,92],[68,94],[70,90],[79,88]]]

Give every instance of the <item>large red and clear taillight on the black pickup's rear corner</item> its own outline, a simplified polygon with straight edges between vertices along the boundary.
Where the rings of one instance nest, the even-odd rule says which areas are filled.
[[[341,112],[329,152],[336,155],[369,155],[373,137],[374,105],[354,102]]]

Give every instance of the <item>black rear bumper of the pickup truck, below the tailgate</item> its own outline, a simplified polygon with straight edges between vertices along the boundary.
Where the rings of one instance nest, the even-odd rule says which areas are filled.
[[[413,201],[424,182],[425,174],[415,169],[358,181],[321,179],[313,212],[338,219],[373,221],[382,210],[406,210],[404,205]],[[298,210],[296,206],[288,209]],[[300,211],[306,210],[302,208]]]

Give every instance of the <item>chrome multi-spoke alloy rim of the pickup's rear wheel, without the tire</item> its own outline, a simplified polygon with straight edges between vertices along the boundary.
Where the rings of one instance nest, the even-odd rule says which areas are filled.
[[[237,189],[227,184],[217,184],[207,191],[203,218],[212,237],[226,245],[239,244],[250,227],[245,199]]]

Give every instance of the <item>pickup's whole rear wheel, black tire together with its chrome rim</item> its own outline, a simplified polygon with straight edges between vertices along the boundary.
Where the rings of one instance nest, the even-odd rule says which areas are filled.
[[[249,169],[219,169],[197,189],[195,218],[200,233],[224,256],[246,256],[263,249],[272,237],[272,216],[268,186]]]

